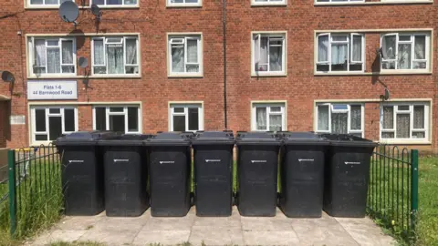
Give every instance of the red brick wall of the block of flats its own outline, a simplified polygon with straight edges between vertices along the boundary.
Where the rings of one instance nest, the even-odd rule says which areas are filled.
[[[12,94],[13,115],[26,115],[26,34],[66,34],[73,31],[63,23],[57,10],[25,10],[22,0],[2,0],[0,16],[0,70],[16,76]],[[18,4],[17,4],[18,2]],[[99,32],[141,33],[141,78],[90,79],[83,89],[78,79],[79,102],[142,102],[143,132],[167,130],[168,101],[203,101],[204,128],[224,128],[224,64],[222,1],[203,0],[199,8],[166,8],[165,1],[140,0],[140,8],[104,9]],[[316,99],[379,98],[381,85],[372,85],[371,76],[315,76],[314,30],[433,28],[436,52],[436,10],[433,5],[343,5],[316,6],[313,1],[287,1],[287,6],[251,7],[250,0],[227,1],[227,97],[228,128],[250,129],[251,100],[287,100],[287,129],[313,130]],[[78,29],[96,32],[94,17],[81,10]],[[22,36],[16,32],[22,31]],[[287,77],[251,77],[251,31],[287,31]],[[203,33],[202,78],[167,77],[167,32]],[[379,33],[366,33],[366,71],[371,71]],[[79,41],[79,40],[78,40]],[[80,42],[79,42],[80,43]],[[89,57],[89,38],[78,56]],[[90,57],[89,57],[90,58]],[[89,64],[91,63],[89,59]],[[433,72],[438,61],[433,56]],[[80,71],[80,69],[78,69]],[[79,73],[82,73],[80,71]],[[432,98],[433,126],[437,126],[436,75],[381,76],[391,98]],[[2,94],[9,95],[6,83]],[[90,106],[78,107],[80,129],[92,128]],[[9,147],[28,144],[27,125],[11,127]],[[433,148],[438,139],[433,129]],[[379,138],[379,107],[365,105],[365,137]],[[429,146],[430,148],[430,146]]]

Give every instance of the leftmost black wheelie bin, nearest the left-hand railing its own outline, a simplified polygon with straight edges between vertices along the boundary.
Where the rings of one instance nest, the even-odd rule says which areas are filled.
[[[96,215],[104,210],[103,161],[97,146],[112,132],[78,131],[57,138],[66,215]]]

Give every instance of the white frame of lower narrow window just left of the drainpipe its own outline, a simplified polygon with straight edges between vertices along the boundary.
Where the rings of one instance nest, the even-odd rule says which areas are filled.
[[[174,108],[184,108],[183,113],[174,112]],[[173,131],[173,116],[185,117],[185,131],[197,131],[189,129],[189,108],[198,108],[198,128],[197,130],[203,130],[203,103],[184,103],[184,102],[172,102],[169,103],[169,131]]]

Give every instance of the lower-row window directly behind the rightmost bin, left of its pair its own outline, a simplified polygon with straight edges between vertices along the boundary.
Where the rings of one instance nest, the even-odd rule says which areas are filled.
[[[363,136],[363,105],[329,104],[317,105],[317,132]]]

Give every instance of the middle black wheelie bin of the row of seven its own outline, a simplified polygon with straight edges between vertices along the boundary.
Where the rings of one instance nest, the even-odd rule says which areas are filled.
[[[193,136],[194,204],[197,216],[230,216],[233,206],[231,131],[198,131]]]

